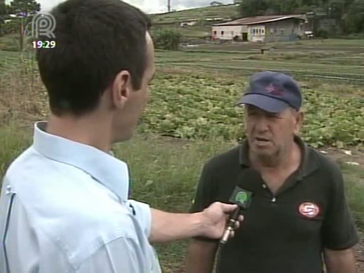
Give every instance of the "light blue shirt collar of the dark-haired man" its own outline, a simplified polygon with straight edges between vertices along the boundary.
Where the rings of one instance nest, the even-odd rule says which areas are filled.
[[[33,148],[41,155],[72,165],[88,173],[116,194],[120,201],[128,197],[127,164],[95,147],[74,142],[45,131],[47,121],[34,124]]]

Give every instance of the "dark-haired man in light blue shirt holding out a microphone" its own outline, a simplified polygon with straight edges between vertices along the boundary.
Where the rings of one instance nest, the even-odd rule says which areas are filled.
[[[174,214],[129,200],[127,164],[110,152],[148,99],[148,18],[119,0],[68,0],[52,14],[56,48],[36,55],[51,114],[3,179],[0,273],[160,272],[151,244],[220,238],[235,205]]]

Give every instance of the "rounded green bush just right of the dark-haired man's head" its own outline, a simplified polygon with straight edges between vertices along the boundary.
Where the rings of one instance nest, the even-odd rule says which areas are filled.
[[[152,34],[155,48],[162,50],[178,50],[181,34],[174,29],[156,29]]]

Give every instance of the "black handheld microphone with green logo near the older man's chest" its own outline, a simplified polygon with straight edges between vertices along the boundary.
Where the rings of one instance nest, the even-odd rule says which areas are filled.
[[[220,245],[224,245],[228,242],[230,238],[230,234],[234,231],[234,224],[238,220],[239,215],[243,209],[247,209],[250,206],[252,201],[253,193],[247,190],[244,190],[238,186],[235,187],[235,190],[230,197],[230,202],[237,204],[238,208],[236,208],[233,213],[229,217],[228,224],[226,225],[225,232],[220,239]]]

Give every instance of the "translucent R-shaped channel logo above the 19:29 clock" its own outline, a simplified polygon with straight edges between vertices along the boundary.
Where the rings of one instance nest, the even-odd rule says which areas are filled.
[[[55,38],[54,30],[56,28],[56,19],[54,16],[48,12],[39,12],[37,13],[32,21],[32,36],[34,38],[39,38],[40,36]]]

